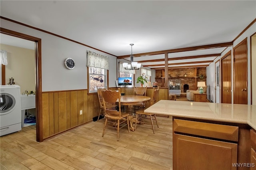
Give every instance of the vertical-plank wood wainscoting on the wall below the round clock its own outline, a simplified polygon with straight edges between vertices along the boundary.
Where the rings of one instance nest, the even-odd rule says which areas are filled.
[[[42,93],[44,140],[88,123],[98,116],[98,95],[88,95],[87,92],[88,90],[69,90]]]

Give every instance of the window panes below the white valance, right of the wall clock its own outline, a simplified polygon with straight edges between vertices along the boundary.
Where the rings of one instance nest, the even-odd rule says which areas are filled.
[[[97,88],[106,88],[106,69],[89,67],[89,93],[97,92]]]

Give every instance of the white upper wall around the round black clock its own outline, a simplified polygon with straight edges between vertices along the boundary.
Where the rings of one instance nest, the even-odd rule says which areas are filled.
[[[0,22],[2,28],[42,39],[42,91],[87,89],[87,50],[108,56],[110,63],[116,65],[116,57],[112,55],[3,19]],[[64,67],[67,57],[76,63],[72,70]],[[110,65],[109,75],[109,87],[116,87],[116,67]]]

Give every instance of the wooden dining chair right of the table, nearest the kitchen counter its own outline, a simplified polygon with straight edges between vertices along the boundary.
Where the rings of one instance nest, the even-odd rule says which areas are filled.
[[[153,92],[150,99],[150,106],[154,105],[158,101],[158,97],[159,97],[159,87],[157,89],[153,88]],[[150,123],[144,121],[147,119],[148,120],[150,119]],[[152,125],[153,132],[155,133],[153,121],[156,121],[156,114],[145,113],[144,109],[141,109],[136,112],[135,130],[137,128],[137,122],[140,124],[146,123],[146,124]],[[156,125],[157,127],[159,127],[157,121],[156,121]]]

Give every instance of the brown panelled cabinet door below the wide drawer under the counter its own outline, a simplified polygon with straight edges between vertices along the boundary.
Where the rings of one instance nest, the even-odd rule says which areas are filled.
[[[173,135],[174,170],[236,170],[237,144]]]

